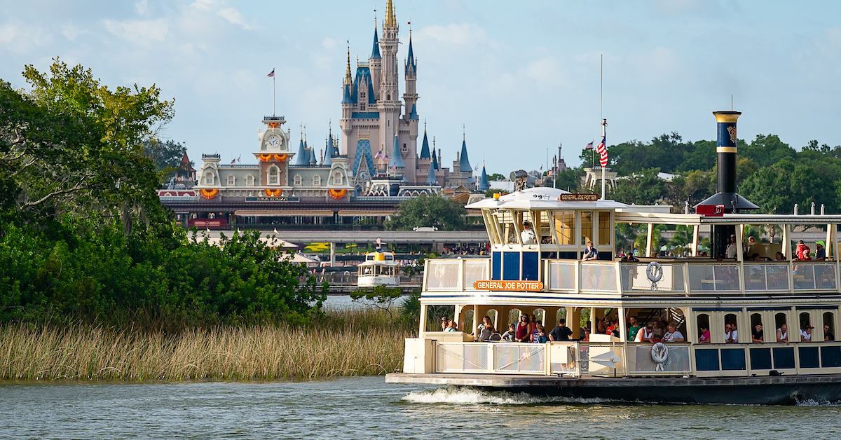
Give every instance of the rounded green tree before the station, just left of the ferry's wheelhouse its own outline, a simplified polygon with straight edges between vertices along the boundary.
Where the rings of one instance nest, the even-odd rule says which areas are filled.
[[[400,202],[397,213],[386,220],[385,227],[394,231],[411,231],[415,227],[436,227],[441,231],[462,231],[467,209],[438,194],[421,195]]]

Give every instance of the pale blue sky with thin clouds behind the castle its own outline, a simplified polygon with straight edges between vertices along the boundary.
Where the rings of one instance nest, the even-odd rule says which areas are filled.
[[[841,2],[394,6],[400,92],[411,28],[418,114],[447,166],[463,136],[470,161],[489,173],[545,169],[558,145],[577,166],[581,148],[599,141],[600,116],[608,145],[673,131],[712,140],[711,112],[731,109],[731,96],[745,140],[841,144]],[[384,11],[385,0],[0,0],[0,78],[26,88],[24,66],[44,71],[59,56],[109,87],[155,84],[175,99],[162,135],[184,143],[193,161],[220,153],[255,162],[257,130],[272,114],[267,73],[276,69],[277,114],[293,145],[300,125],[309,145],[323,145],[341,118],[347,42],[352,68],[367,61]]]

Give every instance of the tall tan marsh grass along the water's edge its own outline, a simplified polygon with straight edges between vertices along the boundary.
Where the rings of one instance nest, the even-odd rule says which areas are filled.
[[[416,332],[384,310],[334,309],[308,326],[164,331],[0,326],[0,379],[312,379],[402,367]]]

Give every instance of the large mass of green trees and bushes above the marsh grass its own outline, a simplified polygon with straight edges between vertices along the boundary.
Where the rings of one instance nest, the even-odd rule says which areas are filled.
[[[320,307],[315,278],[257,232],[215,246],[168,217],[159,169],[182,147],[157,139],[173,115],[158,88],[58,60],[24,77],[29,92],[0,81],[0,321],[182,328]]]

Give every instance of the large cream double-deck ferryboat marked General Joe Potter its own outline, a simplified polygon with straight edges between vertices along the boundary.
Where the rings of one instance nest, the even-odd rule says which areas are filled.
[[[807,215],[756,214],[758,207],[735,188],[740,113],[714,114],[718,192],[695,212],[553,188],[468,205],[482,212],[490,256],[426,260],[418,337],[406,339],[403,371],[386,382],[648,402],[841,400],[841,342],[834,337],[841,318],[841,215],[814,208]],[[533,232],[523,234],[526,223]],[[616,257],[615,229],[623,223],[648,226],[645,255],[656,257]],[[655,225],[690,226],[689,256],[653,253]],[[775,242],[751,242],[747,225],[781,233]],[[698,252],[701,231],[711,234],[711,257]],[[799,240],[825,242],[824,254],[792,259]],[[583,261],[587,241],[597,259]],[[449,310],[444,317],[457,331],[442,331],[441,317],[431,316],[438,310]],[[536,315],[547,333],[563,318],[572,337],[477,340],[485,316],[501,333],[521,315]],[[632,317],[643,330],[631,328]],[[606,318],[617,333],[597,331]],[[589,337],[582,321],[591,323]],[[629,337],[663,321],[680,331],[679,342]]]

